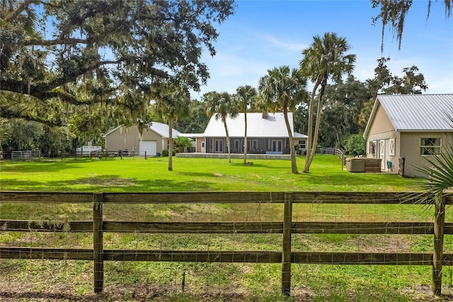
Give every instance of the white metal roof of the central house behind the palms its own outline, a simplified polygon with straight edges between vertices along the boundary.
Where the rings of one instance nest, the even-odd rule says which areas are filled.
[[[243,138],[245,128],[243,115],[244,113],[239,113],[236,118],[231,118],[230,116],[226,118],[226,126],[230,137]],[[288,112],[288,120],[294,135],[292,112]],[[224,138],[226,135],[222,120],[219,118],[216,121],[215,116],[212,116],[206,126],[204,136]],[[251,138],[287,138],[288,132],[283,113],[268,113],[267,118],[263,118],[263,113],[247,113],[247,136]]]

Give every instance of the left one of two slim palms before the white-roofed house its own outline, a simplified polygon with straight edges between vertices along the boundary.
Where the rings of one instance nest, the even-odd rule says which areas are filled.
[[[226,118],[234,118],[238,115],[238,111],[231,100],[231,96],[228,92],[222,92],[219,94],[216,91],[208,92],[203,96],[206,104],[207,116],[215,115],[216,121],[219,118],[222,120],[226,134],[226,147],[228,148],[228,161],[231,162],[231,146],[229,142],[228,126],[226,125]]]

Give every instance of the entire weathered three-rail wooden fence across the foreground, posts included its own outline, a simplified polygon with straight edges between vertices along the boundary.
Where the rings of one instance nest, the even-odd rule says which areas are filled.
[[[445,194],[435,205],[433,223],[426,222],[299,222],[292,221],[294,203],[415,204],[417,198],[398,193],[360,192],[200,192],[200,193],[54,193],[0,191],[0,203],[90,203],[93,220],[47,225],[40,221],[6,220],[0,217],[0,231],[92,232],[93,249],[53,247],[0,247],[0,259],[93,260],[96,293],[103,291],[105,261],[168,262],[252,262],[282,264],[282,293],[290,294],[292,264],[377,264],[432,266],[432,292],[442,291],[442,265],[453,265],[453,254],[443,253],[444,234],[453,234],[453,223],[445,223],[445,205],[453,194]],[[137,222],[105,221],[103,205],[109,203],[283,203],[282,222]],[[280,251],[215,250],[105,250],[103,233],[248,233],[282,234]],[[434,237],[432,253],[411,252],[293,252],[294,233],[325,234],[423,234]]]

